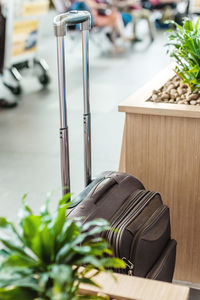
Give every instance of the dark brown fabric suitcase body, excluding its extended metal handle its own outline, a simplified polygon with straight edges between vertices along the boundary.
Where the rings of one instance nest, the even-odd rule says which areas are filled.
[[[131,175],[112,172],[107,176],[110,177],[71,209],[68,218],[83,217],[83,223],[107,219],[117,230],[103,236],[112,245],[115,256],[127,265],[125,270],[115,272],[146,277],[170,240],[169,208],[158,193],[138,189],[138,182]],[[113,177],[119,179],[115,181]],[[168,260],[167,265],[171,274],[174,260]]]

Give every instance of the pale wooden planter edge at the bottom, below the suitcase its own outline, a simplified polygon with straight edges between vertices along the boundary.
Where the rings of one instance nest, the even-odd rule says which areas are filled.
[[[120,274],[115,276],[116,280],[110,274],[102,273],[95,279],[101,289],[82,285],[80,293],[101,293],[116,300],[188,300],[189,288],[185,286]]]

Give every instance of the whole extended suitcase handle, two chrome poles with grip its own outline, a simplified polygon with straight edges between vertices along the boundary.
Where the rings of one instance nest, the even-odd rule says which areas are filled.
[[[69,135],[67,124],[67,98],[65,81],[65,44],[67,26],[80,24],[83,55],[83,126],[84,126],[84,169],[85,186],[91,182],[91,116],[89,99],[89,29],[91,15],[88,11],[70,11],[54,18],[57,38],[58,85],[60,100],[60,150],[63,195],[70,192]]]

